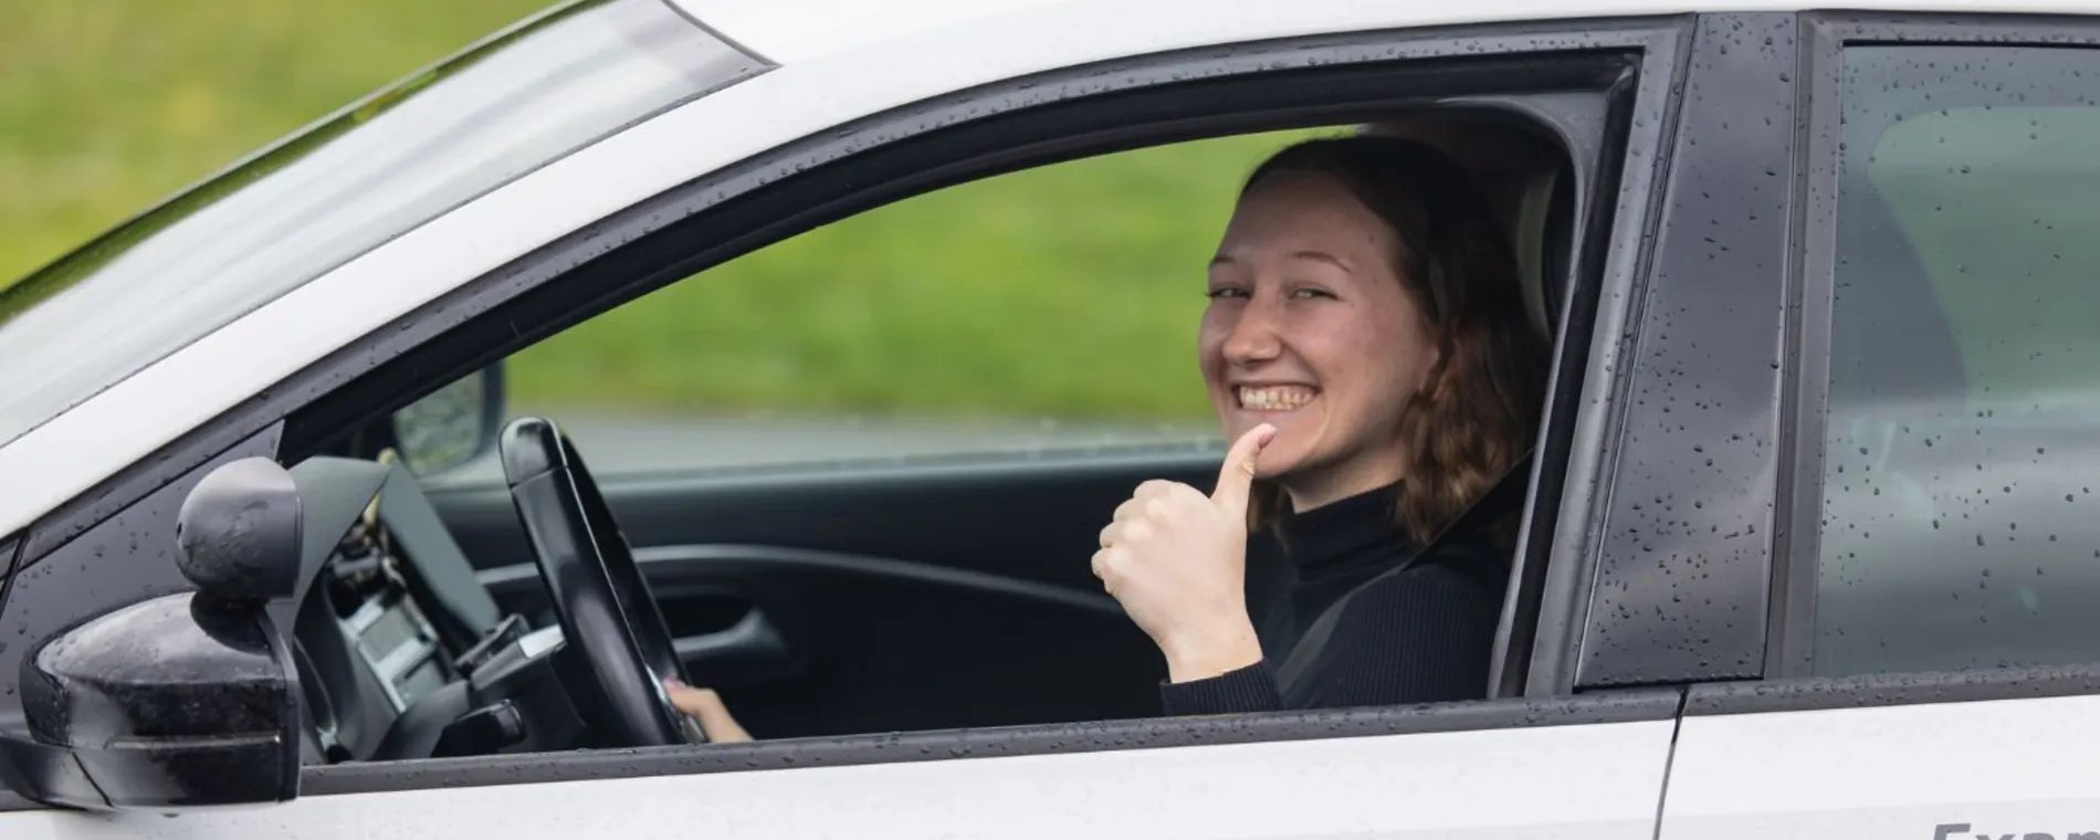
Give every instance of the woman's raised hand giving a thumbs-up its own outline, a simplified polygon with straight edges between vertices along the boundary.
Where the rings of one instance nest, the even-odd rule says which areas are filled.
[[[1100,531],[1094,578],[1153,636],[1174,682],[1262,659],[1245,594],[1247,491],[1275,435],[1268,424],[1241,435],[1210,496],[1176,481],[1138,485]]]

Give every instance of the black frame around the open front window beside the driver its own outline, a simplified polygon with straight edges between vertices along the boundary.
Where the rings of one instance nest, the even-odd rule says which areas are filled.
[[[976,124],[989,124],[1000,113],[1048,111],[1065,103],[1088,105],[1115,90],[1168,86],[1191,71],[1197,78],[1231,76],[1262,80],[1281,76],[1281,71],[1292,67],[1354,69],[1380,61],[1422,59],[1430,61],[1428,67],[1436,67],[1449,78],[1449,67],[1438,59],[1480,63],[1489,61],[1483,57],[1520,57],[1554,63],[1562,61],[1562,55],[1583,57],[1600,50],[1640,55],[1638,69],[1628,84],[1630,90],[1621,90],[1630,107],[1619,113],[1634,128],[1625,130],[1617,139],[1617,145],[1606,145],[1604,149],[1615,166],[1623,162],[1623,172],[1617,176],[1617,191],[1613,195],[1594,195],[1590,212],[1583,218],[1583,225],[1590,225],[1583,239],[1600,246],[1586,248],[1581,265],[1571,269],[1579,281],[1569,284],[1569,294],[1573,296],[1575,290],[1588,288],[1588,294],[1594,294],[1596,300],[1588,304],[1577,300],[1577,307],[1564,304],[1562,311],[1571,313],[1571,317],[1562,319],[1558,330],[1562,336],[1556,336],[1556,346],[1567,346],[1564,355],[1569,359],[1558,365],[1550,414],[1573,416],[1573,422],[1554,426],[1571,430],[1569,441],[1562,441],[1560,449],[1569,449],[1571,454],[1588,452],[1579,445],[1586,430],[1588,435],[1600,435],[1611,422],[1611,395],[1617,393],[1617,365],[1611,361],[1623,353],[1628,342],[1628,336],[1617,330],[1619,323],[1625,323],[1621,307],[1630,298],[1623,290],[1636,281],[1634,267],[1644,260],[1642,254],[1648,248],[1646,237],[1632,235],[1630,231],[1646,231],[1653,216],[1661,212],[1659,197],[1651,185],[1657,168],[1663,166],[1661,160],[1665,155],[1659,151],[1665,143],[1663,126],[1670,122],[1670,109],[1678,101],[1674,84],[1680,80],[1684,67],[1682,52],[1693,19],[1690,15],[1676,15],[1619,21],[1504,23],[1226,44],[1132,59],[1117,63],[1119,67],[1073,67],[1050,74],[1050,80],[1012,80],[1004,86],[970,90],[899,113],[884,113],[872,120],[876,130],[853,132],[857,134],[855,141],[813,139],[811,143],[781,149],[779,153],[729,168],[657,200],[632,206],[601,225],[592,225],[578,235],[468,281],[397,323],[368,334],[357,344],[344,346],[302,370],[279,388],[256,395],[212,424],[164,447],[155,458],[128,468],[118,479],[105,483],[105,487],[69,502],[59,512],[32,525],[15,571],[19,575],[27,569],[27,563],[48,556],[52,548],[67,542],[52,538],[52,533],[78,536],[107,517],[88,517],[86,512],[109,506],[130,510],[130,502],[139,500],[145,491],[172,489],[170,481],[202,477],[204,464],[223,460],[223,454],[229,452],[225,441],[254,441],[256,435],[269,430],[267,439],[277,449],[279,460],[296,462],[319,452],[336,430],[376,420],[430,388],[479,370],[494,361],[494,357],[506,355],[531,338],[596,315],[617,302],[632,300],[662,284],[687,277],[701,265],[748,252],[764,242],[777,242],[794,233],[796,227],[806,229],[823,220],[815,206],[800,206],[785,220],[773,220],[756,231],[741,231],[722,239],[708,239],[718,242],[718,246],[701,254],[691,254],[691,246],[676,246],[672,242],[691,235],[691,227],[680,227],[680,223],[706,223],[722,216],[724,212],[716,208],[718,204],[750,210],[754,206],[762,208],[764,202],[779,202],[779,195],[788,193],[785,185],[798,183],[794,178],[781,181],[792,172],[817,168],[834,160],[853,162],[874,155],[886,145],[899,145],[918,136],[939,139],[956,134]],[[1422,71],[1424,65],[1409,63],[1407,67],[1409,71]],[[962,116],[966,111],[968,118]],[[1231,113],[1220,120],[1233,122],[1245,118],[1245,113]],[[884,141],[886,145],[874,143],[872,136],[888,136],[888,141]],[[1008,164],[1021,162],[1025,160],[1014,158]],[[976,166],[987,164],[976,162]],[[970,176],[983,174],[989,172],[972,172]],[[943,174],[941,170],[918,172],[914,176],[916,189],[941,187],[941,181],[947,176],[951,174]],[[886,187],[901,189],[895,183]],[[840,200],[823,208],[823,212],[832,214],[855,210],[850,200]],[[678,248],[685,256],[670,256],[666,248]],[[603,273],[620,271],[630,273],[630,277],[617,290],[592,284],[592,279],[603,279]],[[1594,309],[1594,317],[1586,323],[1573,315],[1581,313],[1583,307]],[[531,317],[519,319],[517,315]],[[1581,323],[1581,330],[1590,332],[1588,340],[1567,340],[1564,334],[1571,323]],[[519,330],[517,326],[525,328]],[[1581,372],[1579,391],[1575,388],[1577,382],[1567,380],[1569,372]],[[281,441],[277,439],[279,428]],[[1548,460],[1539,458],[1541,464]],[[1535,464],[1533,479],[1539,475],[1558,475],[1556,481],[1544,483],[1556,496],[1552,502],[1558,502],[1558,510],[1552,508],[1552,502],[1544,508],[1533,508],[1541,489],[1535,487],[1533,498],[1527,500],[1527,517],[1531,521],[1567,519],[1571,510],[1575,517],[1586,517],[1590,502],[1598,494],[1594,489],[1594,460],[1573,460],[1554,466]],[[1544,512],[1548,510],[1556,517],[1546,517]],[[1539,533],[1539,527],[1533,527],[1527,540],[1535,533]],[[1544,569],[1548,590],[1554,590],[1552,582],[1560,580],[1560,590],[1573,594],[1579,592],[1579,584],[1571,582],[1583,578],[1579,567],[1588,563],[1590,554],[1581,550],[1562,552],[1564,548],[1558,540],[1535,540],[1525,556],[1544,559],[1546,552],[1554,552],[1558,563]],[[8,582],[13,580],[15,575],[8,578]],[[4,620],[4,601],[0,601],[0,620]],[[1541,624],[1533,649],[1567,649],[1564,632],[1579,634],[1579,624],[1567,628]],[[1195,720],[1111,720],[987,733],[939,731],[914,733],[909,739],[964,750],[964,754],[1014,756],[1027,752],[1086,752],[1092,748],[1128,750],[1176,743],[1226,743],[1233,739],[1277,741],[1403,731],[1619,722],[1636,718],[1667,720],[1676,714],[1680,699],[1680,693],[1674,689],[1625,695],[1604,693],[1594,697],[1569,697],[1560,687],[1552,685],[1533,685],[1525,691],[1527,695],[1522,697],[1426,708],[1281,712]],[[1096,739],[1088,741],[1088,737]],[[449,783],[697,773],[706,766],[729,771],[748,769],[748,758],[752,756],[788,758],[796,766],[907,758],[895,754],[895,750],[886,750],[890,743],[899,743],[899,737],[859,735],[756,743],[733,750],[710,748],[699,752],[672,748],[672,752],[649,752],[645,756],[630,752],[491,756],[487,760],[443,762],[443,773],[424,762],[317,766],[307,773],[309,781],[313,781],[313,794],[418,790]],[[941,758],[945,752],[932,750],[934,758]],[[527,773],[525,769],[538,771]],[[4,808],[4,802],[0,802],[0,808]]]

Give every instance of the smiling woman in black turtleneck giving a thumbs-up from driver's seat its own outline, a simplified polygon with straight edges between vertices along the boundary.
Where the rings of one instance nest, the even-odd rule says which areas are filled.
[[[1168,659],[1168,714],[1485,693],[1506,559],[1489,533],[1418,554],[1529,447],[1548,351],[1516,284],[1428,145],[1323,139],[1256,168],[1197,340],[1235,441],[1218,487],[1140,485],[1094,554]],[[1292,569],[1260,609],[1250,552]]]

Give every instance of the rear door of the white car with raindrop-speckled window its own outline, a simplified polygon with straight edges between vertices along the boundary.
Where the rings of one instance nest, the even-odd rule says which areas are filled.
[[[2100,836],[2100,25],[1812,15],[1793,525],[1661,838]]]

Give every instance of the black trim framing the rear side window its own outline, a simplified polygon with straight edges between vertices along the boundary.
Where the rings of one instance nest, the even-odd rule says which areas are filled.
[[[2029,697],[2041,687],[2083,687],[2081,668],[2003,668],[1991,672],[1917,672],[1903,676],[1819,678],[1814,668],[1816,565],[1823,514],[1823,433],[1829,399],[1831,300],[1838,260],[1838,122],[1842,118],[1844,48],[1884,46],[2068,46],[2100,48],[2100,17],[2079,15],[1894,15],[1894,13],[1804,13],[1800,52],[1800,97],[1808,118],[1798,130],[1796,172],[1804,200],[1796,206],[1796,277],[1789,332],[1789,386],[1783,416],[1791,430],[1781,437],[1789,452],[1781,464],[1781,510],[1789,527],[1772,559],[1772,607],[1766,645],[1766,680],[1798,682],[1774,689],[1785,697],[1838,693],[1882,699],[1850,704],[1900,704],[1942,697],[1951,687],[1966,699]],[[1978,676],[1991,674],[1991,676]],[[1890,691],[1892,687],[1917,691]],[[2100,693],[2100,682],[2064,693]],[[1697,693],[1695,693],[1697,695]],[[1705,697],[1705,695],[1697,695]],[[1722,695],[1716,695],[1722,697]],[[1737,695],[1726,695],[1737,697]],[[1701,710],[1735,708],[1743,701],[1695,704]],[[1756,706],[1756,704],[1751,704]]]

